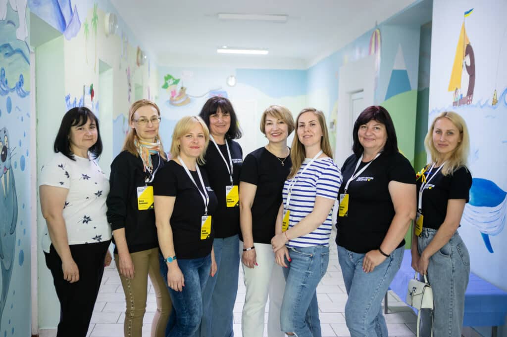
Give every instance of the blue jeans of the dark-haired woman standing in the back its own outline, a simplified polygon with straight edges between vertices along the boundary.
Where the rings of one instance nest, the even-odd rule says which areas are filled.
[[[238,292],[239,238],[234,235],[226,238],[214,238],[216,274],[208,278],[202,293],[203,315],[201,337],[231,337],[232,311]]]

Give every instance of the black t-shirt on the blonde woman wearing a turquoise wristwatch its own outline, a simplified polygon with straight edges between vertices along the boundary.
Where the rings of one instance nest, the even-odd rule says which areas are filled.
[[[197,171],[190,171],[199,190],[202,185]],[[216,195],[209,186],[206,170],[201,170],[202,179],[209,196],[208,215],[213,216],[216,209]],[[170,160],[162,167],[153,182],[154,195],[175,196],[170,224],[176,257],[197,259],[208,255],[213,244],[213,223],[211,235],[201,240],[201,217],[204,215],[204,201],[183,166]],[[213,217],[211,217],[213,221]]]

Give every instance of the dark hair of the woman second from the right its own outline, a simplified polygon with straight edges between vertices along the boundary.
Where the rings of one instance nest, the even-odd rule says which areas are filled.
[[[354,123],[354,130],[352,131],[352,138],[354,139],[354,144],[352,145],[352,151],[354,154],[359,157],[363,154],[365,150],[363,145],[359,143],[359,137],[357,136],[357,132],[359,131],[359,127],[368,123],[370,120],[376,120],[379,123],[385,125],[385,131],[387,133],[387,141],[384,146],[385,153],[398,152],[398,140],[396,138],[396,131],[394,130],[394,123],[392,122],[391,116],[389,112],[380,105],[372,105],[363,110],[357,117]]]

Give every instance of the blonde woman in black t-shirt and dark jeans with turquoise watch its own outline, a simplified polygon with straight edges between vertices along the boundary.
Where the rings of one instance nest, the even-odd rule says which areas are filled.
[[[154,182],[160,273],[169,289],[175,322],[167,336],[197,332],[203,314],[202,293],[216,273],[212,216],[218,201],[204,163],[209,131],[198,116],[180,119],[172,134],[172,159]],[[172,321],[172,319],[171,319]]]

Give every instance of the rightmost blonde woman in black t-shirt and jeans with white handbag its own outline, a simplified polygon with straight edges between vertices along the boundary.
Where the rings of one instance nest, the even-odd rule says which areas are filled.
[[[412,267],[427,275],[433,290],[433,335],[461,336],[470,257],[457,229],[472,187],[466,167],[469,138],[456,112],[438,115],[424,145],[431,162],[418,178],[417,220],[412,240]],[[430,312],[421,312],[421,335],[431,333]]]

